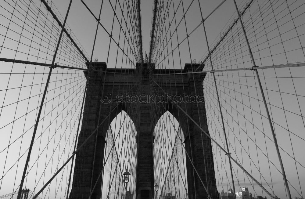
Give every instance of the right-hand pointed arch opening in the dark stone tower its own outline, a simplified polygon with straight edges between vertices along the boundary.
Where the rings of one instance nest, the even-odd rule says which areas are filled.
[[[186,171],[185,135],[168,110],[154,128],[155,198],[189,198]]]

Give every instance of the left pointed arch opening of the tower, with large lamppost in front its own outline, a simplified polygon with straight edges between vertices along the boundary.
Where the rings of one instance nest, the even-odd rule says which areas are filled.
[[[134,198],[136,179],[136,135],[131,117],[122,110],[109,121],[105,136],[101,198]],[[128,182],[124,173],[129,172]]]

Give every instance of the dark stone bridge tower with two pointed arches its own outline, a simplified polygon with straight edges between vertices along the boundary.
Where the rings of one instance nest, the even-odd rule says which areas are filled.
[[[154,194],[154,140],[152,134],[157,121],[165,111],[169,111],[178,120],[185,135],[184,143],[186,152],[192,154],[193,164],[204,184],[210,187],[209,191],[212,198],[218,198],[211,141],[202,133],[202,145],[202,137],[198,126],[178,108],[178,106],[182,107],[197,124],[200,123],[201,127],[208,132],[204,102],[200,103],[199,106],[197,103],[184,102],[177,102],[178,106],[176,103],[171,102],[163,102],[159,106],[156,106],[154,103],[117,103],[114,99],[115,96],[123,93],[129,95],[135,94],[137,96],[146,94],[160,94],[164,96],[164,92],[173,96],[183,96],[183,93],[186,95],[203,95],[202,82],[205,74],[157,75],[190,72],[192,71],[192,67],[195,71],[199,67],[199,64],[185,64],[182,71],[176,69],[155,69],[153,70],[154,74],[150,74],[147,70],[147,63],[143,65],[138,63],[136,69],[106,69],[106,63],[104,62],[94,63],[94,65],[96,71],[85,73],[88,80],[88,87],[84,104],[83,121],[78,137],[78,146],[88,138],[101,121],[106,118],[107,122],[104,122],[99,127],[97,132],[98,136],[91,136],[84,147],[76,154],[73,184],[69,198],[88,199],[92,168],[94,166],[92,182],[96,182],[97,176],[103,166],[106,132],[110,122],[121,110],[124,110],[134,122],[137,130],[137,143],[141,143],[137,151],[136,199],[151,199]],[[124,87],[122,86],[123,84]],[[113,97],[112,101],[107,104],[102,103],[100,99],[109,93]],[[145,100],[145,97],[142,99]],[[98,121],[100,109],[100,121]],[[151,117],[152,113],[157,115],[157,117]],[[93,165],[96,137],[98,139],[97,143],[99,144],[96,148],[95,165]],[[195,194],[197,199],[207,198],[208,195],[188,158],[186,158],[186,166],[189,198],[195,199]],[[205,167],[207,176],[205,174]],[[99,179],[91,198],[100,199],[101,186],[102,179]]]

